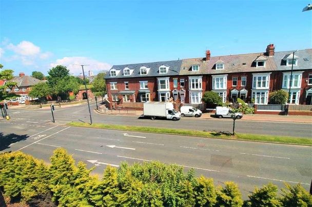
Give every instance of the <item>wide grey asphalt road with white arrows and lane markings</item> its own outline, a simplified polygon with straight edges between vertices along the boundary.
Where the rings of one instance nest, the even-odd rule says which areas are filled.
[[[56,119],[63,121],[88,121],[89,118],[88,111],[83,114],[80,111],[87,110],[86,105],[56,110]],[[212,177],[216,185],[228,180],[235,181],[244,198],[253,191],[254,186],[268,182],[280,188],[284,181],[291,184],[300,182],[306,190],[311,182],[312,147],[51,125],[49,112],[12,110],[11,121],[0,121],[0,152],[21,150],[49,163],[53,150],[63,147],[73,154],[75,160],[87,163],[89,168],[95,165],[94,173],[97,174],[102,174],[107,164],[119,166],[124,160],[130,164],[160,160],[184,166],[186,170],[194,168],[197,175]],[[66,117],[61,117],[64,113]],[[136,123],[133,123],[136,120],[133,117],[94,114],[93,118],[94,122]],[[193,120],[181,121],[202,122]],[[178,123],[164,120],[136,121],[141,124],[152,123],[152,126],[162,122]],[[224,120],[224,123],[227,122]],[[256,125],[260,123],[266,122]],[[198,124],[191,127],[198,127]]]

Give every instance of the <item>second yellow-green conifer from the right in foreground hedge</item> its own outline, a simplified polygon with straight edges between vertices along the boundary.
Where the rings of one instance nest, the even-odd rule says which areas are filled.
[[[278,188],[272,183],[264,185],[261,189],[256,187],[251,195],[248,195],[249,200],[245,201],[245,206],[252,207],[277,207],[282,206],[278,196]]]

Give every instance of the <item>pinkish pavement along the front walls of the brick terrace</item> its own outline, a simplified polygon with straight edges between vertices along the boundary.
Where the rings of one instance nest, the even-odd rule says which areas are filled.
[[[140,116],[143,114],[141,110],[97,110],[103,114],[114,115],[128,115],[128,116]],[[203,113],[201,117],[194,119],[216,119],[214,113]],[[242,120],[249,121],[269,121],[269,122],[297,122],[297,123],[312,123],[312,116],[295,116],[295,115],[275,115],[275,114],[244,114]]]

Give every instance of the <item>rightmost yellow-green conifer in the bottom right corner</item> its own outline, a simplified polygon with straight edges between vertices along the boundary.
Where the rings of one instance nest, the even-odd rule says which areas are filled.
[[[283,206],[312,206],[312,195],[309,194],[300,184],[291,187],[285,183],[285,189],[281,189],[283,195],[281,202]]]

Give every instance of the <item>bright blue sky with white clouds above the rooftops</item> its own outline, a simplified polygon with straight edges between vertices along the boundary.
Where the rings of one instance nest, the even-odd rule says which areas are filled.
[[[312,48],[310,1],[0,0],[0,63],[31,75]]]

